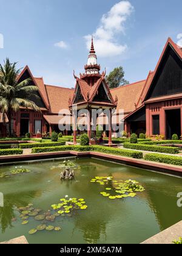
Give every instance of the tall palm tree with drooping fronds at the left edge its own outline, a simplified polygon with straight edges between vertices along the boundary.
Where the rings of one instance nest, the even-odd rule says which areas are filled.
[[[17,77],[21,69],[16,69],[16,62],[10,63],[7,58],[4,66],[0,64],[0,110],[2,115],[7,115],[9,136],[12,135],[11,116],[20,107],[31,108],[40,111],[40,108],[30,98],[38,98],[38,87],[30,85],[32,79],[25,79],[18,83]]]

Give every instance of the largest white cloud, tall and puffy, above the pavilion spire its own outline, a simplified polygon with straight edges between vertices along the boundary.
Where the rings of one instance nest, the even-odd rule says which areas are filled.
[[[124,34],[124,23],[131,15],[134,8],[129,1],[120,1],[113,5],[110,11],[103,15],[99,27],[96,29],[94,44],[96,54],[100,57],[113,57],[126,51],[127,45],[117,43],[116,35]],[[91,35],[86,35],[87,48],[90,49]]]

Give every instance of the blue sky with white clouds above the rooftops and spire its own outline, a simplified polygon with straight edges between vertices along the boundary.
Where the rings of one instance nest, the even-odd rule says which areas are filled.
[[[92,34],[101,68],[121,65],[130,82],[146,79],[168,37],[182,46],[181,0],[0,0],[0,9],[0,63],[29,65],[45,84],[75,86]]]

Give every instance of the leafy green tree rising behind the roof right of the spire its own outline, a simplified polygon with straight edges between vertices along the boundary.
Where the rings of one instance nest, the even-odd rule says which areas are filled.
[[[124,79],[124,69],[122,66],[113,69],[109,76],[106,76],[106,80],[110,88],[117,88],[129,84],[129,81]]]

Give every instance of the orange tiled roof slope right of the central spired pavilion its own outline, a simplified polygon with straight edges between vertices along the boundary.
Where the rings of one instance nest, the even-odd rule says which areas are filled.
[[[118,110],[124,110],[124,113],[133,112],[136,109],[138,100],[140,99],[141,91],[144,88],[146,80],[142,80],[130,85],[124,85],[110,90],[112,97],[115,99],[115,96],[118,98]]]

